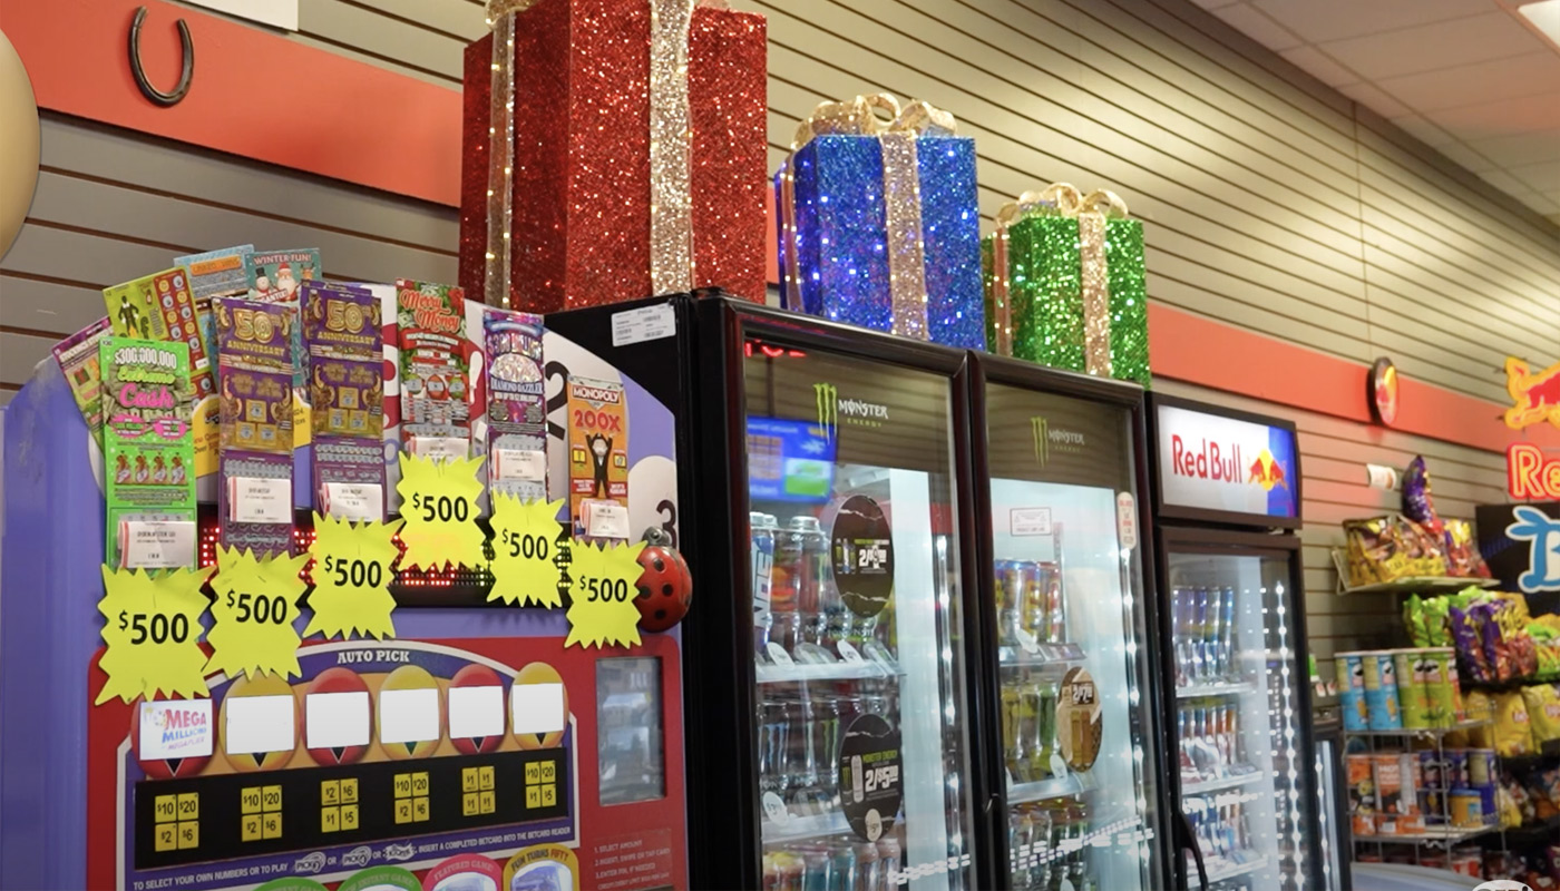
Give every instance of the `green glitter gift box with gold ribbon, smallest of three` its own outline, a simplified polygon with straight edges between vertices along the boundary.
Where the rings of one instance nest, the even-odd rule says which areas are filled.
[[[1143,225],[1112,192],[1025,192],[981,240],[986,342],[1041,365],[1148,385]]]

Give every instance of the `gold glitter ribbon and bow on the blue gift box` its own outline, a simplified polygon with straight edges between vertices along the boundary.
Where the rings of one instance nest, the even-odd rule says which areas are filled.
[[[888,112],[888,119],[878,117]],[[819,103],[796,130],[796,153],[814,136],[875,136],[883,148],[883,203],[888,226],[889,301],[894,334],[927,340],[927,262],[920,231],[920,170],[916,139],[955,136],[953,114],[917,100],[900,105],[886,92],[858,95],[849,101]],[[800,295],[797,267],[796,192],[789,165],[780,179],[780,214],[788,239],[786,292]]]

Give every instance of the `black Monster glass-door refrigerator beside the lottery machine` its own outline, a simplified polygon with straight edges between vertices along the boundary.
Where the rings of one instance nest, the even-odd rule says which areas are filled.
[[[967,354],[683,306],[693,886],[992,888]]]

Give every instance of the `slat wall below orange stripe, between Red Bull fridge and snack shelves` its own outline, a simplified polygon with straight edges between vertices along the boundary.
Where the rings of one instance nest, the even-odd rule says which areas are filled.
[[[1415,454],[1429,463],[1437,510],[1448,518],[1473,516],[1477,504],[1505,501],[1504,457],[1452,443],[1359,424],[1315,412],[1273,406],[1231,393],[1156,381],[1156,390],[1248,412],[1282,417],[1299,429],[1304,526],[1301,565],[1306,573],[1306,616],[1312,652],[1323,677],[1332,654],[1385,646],[1398,640],[1401,596],[1337,595],[1337,573],[1329,548],[1343,545],[1345,520],[1399,510],[1402,493],[1370,488],[1365,463],[1402,468]]]

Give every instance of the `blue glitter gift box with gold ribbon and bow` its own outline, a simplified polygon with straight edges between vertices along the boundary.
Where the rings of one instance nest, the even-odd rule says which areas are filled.
[[[984,350],[975,140],[875,95],[821,105],[796,145],[775,173],[783,306]]]

